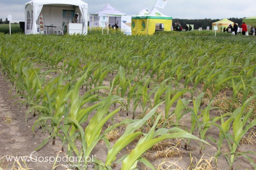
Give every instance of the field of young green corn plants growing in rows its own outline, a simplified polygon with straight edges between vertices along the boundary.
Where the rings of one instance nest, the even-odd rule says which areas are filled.
[[[36,151],[61,140],[68,157],[84,160],[71,164],[87,165],[103,142],[108,155],[94,158],[95,169],[157,169],[145,154],[159,142],[182,139],[187,150],[196,141],[201,156],[215,144],[216,166],[222,155],[230,170],[238,157],[255,169],[255,153],[238,150],[256,126],[255,46],[240,36],[0,34],[0,70],[28,109],[24,119],[37,117],[32,131],[40,127],[46,135]],[[220,97],[224,92],[228,97]],[[211,136],[213,127],[219,132]],[[110,141],[116,129],[120,135]]]

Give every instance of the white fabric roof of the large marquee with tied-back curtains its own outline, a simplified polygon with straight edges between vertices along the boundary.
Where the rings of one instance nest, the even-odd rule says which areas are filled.
[[[85,8],[88,8],[88,4],[81,0],[31,0],[26,3],[25,6],[27,6],[28,4],[31,4],[32,6],[46,4],[69,4],[75,6],[85,6]]]

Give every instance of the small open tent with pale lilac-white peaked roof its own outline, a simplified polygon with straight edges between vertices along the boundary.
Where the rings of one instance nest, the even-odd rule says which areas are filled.
[[[107,4],[104,8],[102,8],[98,12],[90,13],[90,28],[99,27],[100,17],[108,17],[109,16],[109,24],[115,25],[117,24],[118,27],[121,27],[121,16],[126,15],[126,13],[117,11],[111,5]]]

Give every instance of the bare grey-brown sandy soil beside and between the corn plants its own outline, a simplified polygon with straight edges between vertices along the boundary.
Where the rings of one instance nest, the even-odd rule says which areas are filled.
[[[6,78],[3,76],[0,76],[0,158],[2,158],[5,155],[12,155],[12,156],[30,156],[31,152],[34,151],[34,149],[42,143],[42,141],[47,137],[47,135],[43,135],[41,129],[37,129],[36,134],[31,131],[31,127],[33,126],[33,123],[37,119],[37,117],[33,117],[33,114],[28,115],[28,124],[26,125],[25,122],[25,113],[27,112],[27,109],[25,106],[19,104],[16,104],[18,99],[12,99],[12,95],[15,94],[14,89],[12,90],[12,93],[9,93],[10,85]],[[81,92],[83,89],[81,89]],[[118,105],[117,105],[118,107]],[[114,108],[111,108],[113,110]],[[164,108],[161,108],[164,110]],[[172,108],[173,109],[173,108]],[[140,109],[138,108],[136,110],[136,114],[140,114]],[[218,112],[213,111],[212,116],[215,116],[215,114],[219,114]],[[115,121],[126,118],[132,118],[132,114],[130,113],[128,117],[126,116],[126,111],[121,111],[118,113],[119,116],[116,116],[114,118]],[[93,114],[89,116],[89,120],[92,118]],[[11,118],[10,123],[4,122],[6,120],[6,117]],[[108,121],[105,127],[108,126],[108,124],[112,124],[111,121]],[[185,125],[185,127],[189,128],[191,126],[190,123],[190,115],[186,114],[183,119],[181,120],[181,124]],[[196,132],[197,133],[197,132]],[[197,135],[197,134],[194,135]],[[219,130],[217,128],[210,128],[208,131],[209,136],[214,137],[215,139],[218,138]],[[170,140],[170,142],[175,143],[175,140]],[[207,153],[210,156],[214,156],[215,152],[217,151],[217,145],[215,143],[212,143],[212,146],[206,145],[206,148],[204,150],[204,153]],[[111,142],[111,146],[113,146],[114,142]],[[58,152],[61,151],[61,145],[62,142],[57,139],[55,142],[55,145],[52,146],[51,141],[48,142],[41,150],[37,151],[33,154],[32,157],[56,157]],[[224,148],[223,152],[228,152],[228,145],[226,143],[223,144]],[[129,153],[128,150],[131,150],[136,146],[136,143],[131,143],[128,145],[128,149],[124,148],[117,156],[118,158],[121,158],[124,154]],[[183,143],[181,147],[181,157],[176,156],[174,158],[149,158],[149,161],[157,168],[157,166],[164,162],[175,162],[178,166],[180,166],[182,169],[187,169],[190,164],[190,152],[192,156],[195,156],[198,160],[202,155],[199,154],[199,147],[198,144],[193,141],[189,144],[190,151],[187,151],[183,148]],[[242,146],[239,148],[240,151],[256,151],[255,146]],[[65,150],[64,150],[65,152]],[[100,142],[97,144],[97,146],[93,149],[92,154],[100,159],[100,160],[106,160],[108,149],[106,148],[105,144]],[[154,153],[153,153],[154,154]],[[209,156],[205,154],[204,158],[209,158]],[[63,154],[61,156],[64,156]],[[251,155],[252,156],[252,155]],[[255,156],[252,156],[253,160],[256,160]],[[64,164],[63,162],[59,164]],[[13,162],[7,162],[6,159],[0,160],[0,165],[4,169],[11,169],[13,166]],[[53,163],[49,164],[49,162],[27,162],[28,168],[33,169],[52,169]],[[15,164],[17,167],[17,164]],[[24,164],[22,164],[23,167]],[[212,166],[216,167],[214,162],[212,162]],[[238,167],[238,169],[252,169],[252,166],[250,166],[250,163],[243,157],[239,157],[235,161],[235,166]],[[218,167],[220,169],[229,169],[228,163],[226,161],[226,158],[224,156],[221,156],[218,161]],[[65,167],[58,166],[57,169],[66,169]],[[121,164],[116,164],[113,169],[119,170],[121,169]],[[138,165],[138,169],[144,169],[143,166],[140,164]]]

